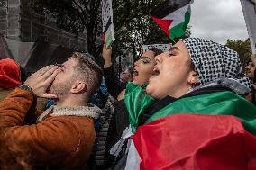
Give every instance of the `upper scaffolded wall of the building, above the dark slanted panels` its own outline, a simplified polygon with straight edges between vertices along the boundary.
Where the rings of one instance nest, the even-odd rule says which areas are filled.
[[[54,21],[32,13],[28,0],[0,0],[0,31],[11,40],[44,40],[80,51],[84,51],[86,46],[84,34],[76,37],[68,31],[58,29]]]

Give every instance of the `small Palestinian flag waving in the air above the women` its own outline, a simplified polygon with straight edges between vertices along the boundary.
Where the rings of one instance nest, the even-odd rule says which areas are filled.
[[[167,0],[153,9],[152,19],[160,25],[171,40],[185,35],[190,20],[193,0]]]

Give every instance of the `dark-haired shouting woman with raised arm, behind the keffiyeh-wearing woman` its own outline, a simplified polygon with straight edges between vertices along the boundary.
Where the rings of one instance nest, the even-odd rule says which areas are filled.
[[[156,64],[154,61],[155,56],[162,53],[160,49],[151,47],[145,51],[141,58],[139,58],[133,67],[133,83],[136,85],[145,85],[149,81],[149,78],[153,75],[153,67]],[[123,97],[125,91],[122,92],[118,76],[115,76],[114,67],[111,61],[112,49],[106,49],[105,44],[103,46],[102,56],[104,58],[104,76],[105,84],[107,86],[109,94],[113,95],[118,101],[114,103],[114,114],[110,121],[108,134],[106,138],[105,147],[105,168],[114,166],[115,160],[118,157],[110,155],[109,151],[114,144],[121,138],[123,130],[129,126],[128,114],[125,108]],[[122,92],[122,93],[121,93]]]

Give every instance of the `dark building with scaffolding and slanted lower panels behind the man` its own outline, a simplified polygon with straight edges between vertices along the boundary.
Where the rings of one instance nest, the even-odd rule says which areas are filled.
[[[85,34],[61,30],[49,16],[33,13],[29,0],[0,0],[0,36],[0,51],[10,51],[0,59],[12,56],[29,73],[62,63],[87,44]]]

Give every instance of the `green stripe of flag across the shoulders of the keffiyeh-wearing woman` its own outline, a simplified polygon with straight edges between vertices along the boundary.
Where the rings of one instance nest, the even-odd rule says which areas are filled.
[[[177,113],[233,115],[242,120],[245,130],[256,134],[256,107],[232,92],[224,91],[178,99],[154,113],[147,122]]]

